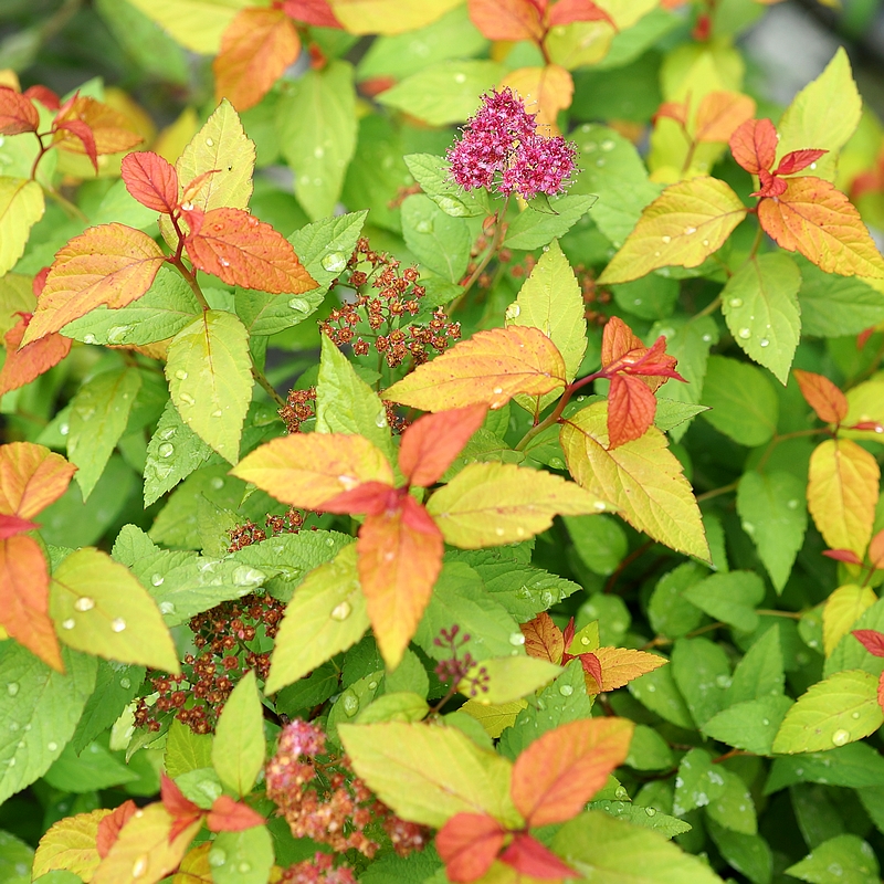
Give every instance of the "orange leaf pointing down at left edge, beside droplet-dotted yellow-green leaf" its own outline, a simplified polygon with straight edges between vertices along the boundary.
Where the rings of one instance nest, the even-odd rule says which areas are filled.
[[[0,540],[0,624],[19,644],[64,672],[48,612],[49,570],[36,541],[23,534]]]

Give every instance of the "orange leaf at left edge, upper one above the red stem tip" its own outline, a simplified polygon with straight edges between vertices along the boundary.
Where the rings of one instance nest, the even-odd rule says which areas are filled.
[[[0,513],[31,518],[67,490],[76,466],[33,442],[0,445]]]

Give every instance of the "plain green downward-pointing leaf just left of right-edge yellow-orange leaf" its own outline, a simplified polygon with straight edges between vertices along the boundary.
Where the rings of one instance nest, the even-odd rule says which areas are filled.
[[[792,572],[808,527],[807,487],[783,471],[744,473],[737,486],[737,513],[777,592]]]

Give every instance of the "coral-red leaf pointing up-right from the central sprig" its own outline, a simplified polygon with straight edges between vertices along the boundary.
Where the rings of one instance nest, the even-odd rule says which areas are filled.
[[[428,487],[451,466],[485,420],[488,407],[467,406],[419,418],[402,434],[399,469],[411,485]]]

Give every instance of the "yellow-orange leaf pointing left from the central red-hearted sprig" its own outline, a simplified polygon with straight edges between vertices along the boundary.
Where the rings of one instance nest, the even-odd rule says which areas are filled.
[[[341,433],[274,439],[243,457],[231,473],[284,504],[305,509],[322,509],[326,501],[365,482],[393,482],[379,449],[360,435]]]

